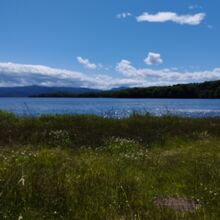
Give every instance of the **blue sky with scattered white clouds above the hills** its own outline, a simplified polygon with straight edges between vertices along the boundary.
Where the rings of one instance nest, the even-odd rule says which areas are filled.
[[[0,0],[0,87],[220,79],[219,0]]]

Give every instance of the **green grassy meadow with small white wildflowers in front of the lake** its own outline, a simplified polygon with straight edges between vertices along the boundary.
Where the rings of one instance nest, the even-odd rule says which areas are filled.
[[[0,114],[0,219],[220,219],[220,119]],[[159,208],[188,198],[194,212]]]

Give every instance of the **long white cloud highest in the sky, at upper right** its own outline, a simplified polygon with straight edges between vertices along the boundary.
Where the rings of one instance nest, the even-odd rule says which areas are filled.
[[[175,12],[158,12],[156,14],[144,12],[136,19],[138,22],[174,22],[177,24],[198,25],[204,20],[205,16],[205,13],[178,15]]]

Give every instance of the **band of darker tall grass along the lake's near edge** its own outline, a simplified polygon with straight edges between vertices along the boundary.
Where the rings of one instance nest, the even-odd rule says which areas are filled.
[[[169,137],[220,136],[220,118],[192,119],[134,114],[126,119],[89,115],[16,117],[0,112],[0,145],[100,146],[110,137],[142,144],[160,143]],[[59,143],[59,141],[61,141]]]

